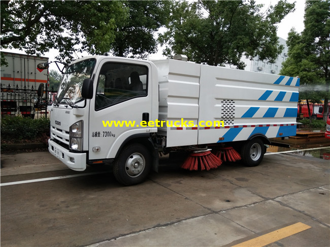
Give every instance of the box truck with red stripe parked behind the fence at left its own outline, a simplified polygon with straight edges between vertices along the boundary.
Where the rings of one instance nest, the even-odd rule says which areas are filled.
[[[37,68],[39,63],[48,63],[48,58],[3,53],[8,66],[1,67],[1,115],[34,118],[39,112],[45,114],[46,108],[35,109],[31,99],[37,96],[40,84],[48,84],[48,70]]]

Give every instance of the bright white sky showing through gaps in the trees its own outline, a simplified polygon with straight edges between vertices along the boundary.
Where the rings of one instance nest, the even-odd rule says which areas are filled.
[[[267,8],[269,5],[275,5],[279,2],[279,0],[256,0],[257,4],[264,4],[264,8]],[[295,3],[295,10],[292,13],[289,13],[281,23],[278,25],[278,30],[277,30],[277,36],[283,39],[287,39],[288,32],[292,27],[295,28],[297,32],[302,32],[304,30],[304,13],[305,13],[305,0],[288,0],[287,2],[289,3]],[[19,50],[4,50],[7,52],[14,52],[14,53],[24,53]],[[162,51],[161,49],[155,53],[151,54],[149,56],[150,60],[154,59],[161,59],[164,58],[161,55]],[[55,61],[55,56],[57,55],[57,51],[52,49],[50,52],[45,53],[43,56],[44,57],[49,57],[49,61]],[[80,55],[80,54],[79,54]],[[87,55],[87,53],[82,54],[84,56]],[[58,70],[57,66],[55,63],[51,63],[49,69],[55,69]]]

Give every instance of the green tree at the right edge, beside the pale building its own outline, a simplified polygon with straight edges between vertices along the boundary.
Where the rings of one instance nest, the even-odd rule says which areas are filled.
[[[281,74],[299,76],[300,98],[324,99],[324,112],[327,112],[330,97],[330,1],[306,2],[304,24],[302,33],[294,29],[289,32],[288,58]]]

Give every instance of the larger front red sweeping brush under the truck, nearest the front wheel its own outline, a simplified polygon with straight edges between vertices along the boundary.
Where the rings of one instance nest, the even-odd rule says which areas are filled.
[[[210,170],[220,166],[222,161],[216,157],[211,151],[191,153],[188,158],[182,164],[181,168],[189,170]]]

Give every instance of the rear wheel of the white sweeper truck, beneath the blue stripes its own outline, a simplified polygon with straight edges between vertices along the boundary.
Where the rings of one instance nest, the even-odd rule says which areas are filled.
[[[257,166],[263,159],[265,147],[260,138],[249,140],[243,145],[242,160],[246,166]]]

